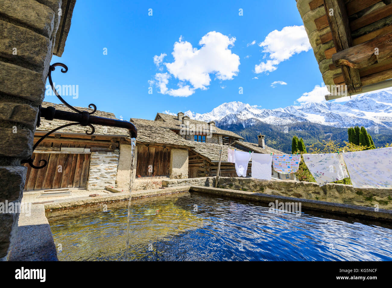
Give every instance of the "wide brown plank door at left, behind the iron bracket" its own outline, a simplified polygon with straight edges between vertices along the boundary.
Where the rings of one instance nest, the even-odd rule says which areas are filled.
[[[45,142],[38,147],[90,148],[91,145]],[[34,165],[40,166],[39,160],[41,159],[47,160],[48,164],[42,169],[32,169],[25,163],[27,174],[24,190],[86,187],[90,156],[91,154],[33,153]],[[62,165],[62,172],[58,172],[58,165]]]

